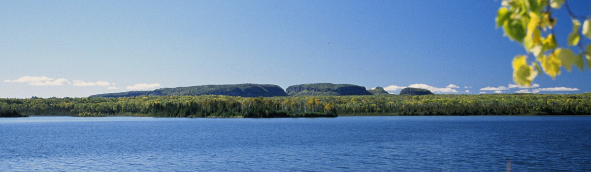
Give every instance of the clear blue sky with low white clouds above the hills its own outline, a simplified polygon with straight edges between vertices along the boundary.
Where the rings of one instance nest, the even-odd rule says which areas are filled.
[[[577,14],[591,13],[591,2],[569,4]],[[556,80],[538,75],[535,88],[509,85],[511,60],[525,50],[495,28],[500,5],[492,0],[2,1],[0,97],[87,97],[241,83],[285,89],[317,82],[385,87],[394,94],[409,86],[437,94],[591,91],[588,68],[563,69]],[[558,44],[566,47],[570,18],[564,8],[553,15]]]

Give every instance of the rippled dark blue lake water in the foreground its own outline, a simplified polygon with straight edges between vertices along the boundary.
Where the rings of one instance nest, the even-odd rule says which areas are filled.
[[[591,117],[0,118],[0,171],[591,171]]]

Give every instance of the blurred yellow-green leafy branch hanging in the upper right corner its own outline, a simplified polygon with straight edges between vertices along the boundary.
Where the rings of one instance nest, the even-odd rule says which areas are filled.
[[[591,68],[591,44],[582,45],[580,39],[591,39],[591,16],[576,16],[566,0],[503,0],[496,17],[496,27],[502,27],[509,39],[523,45],[527,55],[513,58],[513,80],[519,85],[531,85],[541,72],[555,78],[560,67],[571,71],[573,65],[584,71],[584,61]],[[556,18],[553,10],[564,6],[573,22],[568,36],[569,47],[559,47],[554,34]],[[584,21],[581,25],[581,20]],[[570,48],[577,48],[573,52]],[[534,59],[528,60],[528,58]],[[584,60],[583,58],[586,58]],[[528,62],[531,61],[531,62]]]

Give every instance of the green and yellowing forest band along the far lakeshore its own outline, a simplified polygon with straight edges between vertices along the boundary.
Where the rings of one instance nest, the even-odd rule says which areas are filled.
[[[589,115],[591,93],[348,95],[292,97],[140,96],[0,99],[22,115],[150,117],[336,117],[337,115]]]

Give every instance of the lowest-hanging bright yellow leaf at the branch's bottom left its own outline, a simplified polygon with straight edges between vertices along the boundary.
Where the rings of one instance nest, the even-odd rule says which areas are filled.
[[[534,80],[535,76],[538,75],[538,72],[536,72],[533,67],[527,65],[525,55],[518,55],[517,57],[513,58],[512,66],[513,81],[515,81],[515,83],[518,85],[529,86],[531,81]]]

